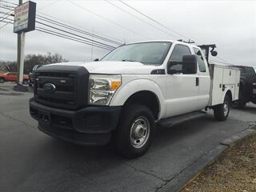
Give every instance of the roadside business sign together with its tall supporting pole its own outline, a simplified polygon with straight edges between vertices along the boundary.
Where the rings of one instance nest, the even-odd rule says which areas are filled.
[[[35,28],[36,3],[19,0],[19,6],[14,9],[14,33],[18,34],[18,81],[22,85],[24,72],[25,33]]]

